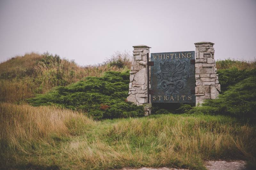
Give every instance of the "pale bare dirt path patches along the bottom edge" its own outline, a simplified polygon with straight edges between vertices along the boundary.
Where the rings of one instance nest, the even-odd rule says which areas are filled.
[[[207,161],[205,162],[205,166],[207,170],[244,170],[245,169],[245,161],[238,160],[238,161]],[[122,170],[187,170],[187,169],[176,169],[176,168],[147,168],[142,167],[139,169],[130,169],[130,168],[123,168]]]

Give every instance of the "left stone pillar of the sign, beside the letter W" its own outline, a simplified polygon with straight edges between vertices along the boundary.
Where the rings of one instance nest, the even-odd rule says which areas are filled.
[[[146,45],[133,46],[132,66],[130,71],[129,96],[127,100],[137,106],[148,102],[148,69],[147,53],[149,48]],[[145,115],[150,114],[150,109],[145,108]]]

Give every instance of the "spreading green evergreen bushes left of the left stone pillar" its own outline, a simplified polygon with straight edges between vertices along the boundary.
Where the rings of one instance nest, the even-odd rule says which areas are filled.
[[[55,105],[82,110],[94,119],[142,116],[142,107],[126,102],[129,77],[129,71],[108,71],[100,78],[87,77],[66,87],[56,87],[28,102],[33,106]]]

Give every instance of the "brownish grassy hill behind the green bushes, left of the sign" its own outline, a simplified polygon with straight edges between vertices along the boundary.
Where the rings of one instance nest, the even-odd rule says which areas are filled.
[[[116,52],[105,63],[78,66],[59,55],[30,53],[0,63],[0,101],[21,102],[55,86],[66,86],[87,76],[130,68],[129,53]]]

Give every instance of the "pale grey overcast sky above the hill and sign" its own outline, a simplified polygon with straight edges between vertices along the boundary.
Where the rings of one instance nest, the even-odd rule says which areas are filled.
[[[79,65],[145,44],[150,52],[215,43],[215,59],[254,60],[256,0],[0,0],[0,62],[49,51]]]

